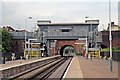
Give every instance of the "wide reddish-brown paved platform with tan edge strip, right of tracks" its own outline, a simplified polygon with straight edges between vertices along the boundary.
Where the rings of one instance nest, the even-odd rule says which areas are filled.
[[[91,61],[85,57],[75,56],[65,78],[114,78],[113,80],[118,80],[118,68],[118,62],[113,61],[113,72],[110,72],[109,60],[93,58]]]

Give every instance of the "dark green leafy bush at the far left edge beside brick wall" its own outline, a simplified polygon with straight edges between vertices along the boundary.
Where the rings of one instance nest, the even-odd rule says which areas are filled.
[[[2,29],[2,52],[10,52],[11,49],[11,34],[5,29]]]

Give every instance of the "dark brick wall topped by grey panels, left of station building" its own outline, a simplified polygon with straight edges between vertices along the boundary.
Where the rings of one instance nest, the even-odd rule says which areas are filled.
[[[12,35],[12,51],[15,53],[24,52],[24,43],[25,43],[25,30],[13,31],[10,32]],[[27,32],[26,38],[33,38],[33,32]]]

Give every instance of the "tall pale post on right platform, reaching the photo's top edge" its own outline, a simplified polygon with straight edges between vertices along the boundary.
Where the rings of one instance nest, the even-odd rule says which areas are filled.
[[[110,41],[110,71],[112,72],[112,34],[111,34],[111,0],[109,0],[109,41]]]

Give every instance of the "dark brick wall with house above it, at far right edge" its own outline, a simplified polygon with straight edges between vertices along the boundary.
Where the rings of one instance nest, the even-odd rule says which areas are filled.
[[[111,22],[112,47],[120,46],[120,26]],[[109,24],[107,31],[102,31],[102,44],[109,47]]]

